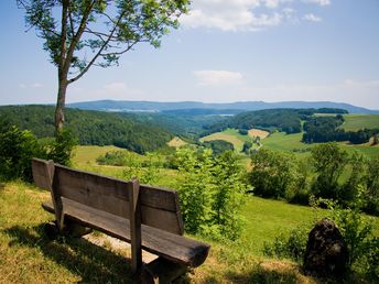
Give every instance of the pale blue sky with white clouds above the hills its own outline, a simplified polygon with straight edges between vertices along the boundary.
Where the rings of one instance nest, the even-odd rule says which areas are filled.
[[[193,0],[161,47],[93,67],[67,102],[336,101],[379,110],[379,0]],[[0,105],[55,103],[57,70],[0,2]]]

